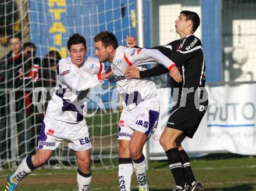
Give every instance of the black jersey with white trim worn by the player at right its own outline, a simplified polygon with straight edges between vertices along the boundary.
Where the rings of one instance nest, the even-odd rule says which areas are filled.
[[[165,46],[156,46],[165,56],[172,60],[183,76],[180,83],[173,82],[175,88],[205,87],[205,57],[200,39],[191,34],[183,39],[172,41]],[[158,64],[150,70],[140,71],[140,77],[152,77],[168,73],[168,70]],[[172,86],[173,87],[173,86]],[[187,99],[194,99],[193,92],[187,95]]]

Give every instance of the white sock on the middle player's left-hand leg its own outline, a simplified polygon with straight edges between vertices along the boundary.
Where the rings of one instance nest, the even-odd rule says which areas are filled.
[[[118,179],[120,191],[131,190],[131,175],[133,175],[133,164],[119,164],[118,165]]]

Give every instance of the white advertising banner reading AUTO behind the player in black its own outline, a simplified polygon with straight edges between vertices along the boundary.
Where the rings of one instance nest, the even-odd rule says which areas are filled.
[[[193,139],[186,138],[188,153],[227,151],[256,155],[256,84],[207,87],[209,106]],[[170,88],[159,88],[160,117],[150,139],[150,154],[163,155],[159,137],[169,118]]]

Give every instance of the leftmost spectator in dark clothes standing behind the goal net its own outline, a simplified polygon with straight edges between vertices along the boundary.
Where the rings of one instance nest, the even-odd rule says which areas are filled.
[[[8,142],[8,121],[9,116],[9,92],[6,88],[12,88],[8,86],[8,81],[11,85],[13,69],[19,62],[19,55],[22,52],[22,39],[19,34],[13,35],[9,39],[10,52],[0,59],[0,160],[7,158],[7,142]],[[14,79],[14,78],[12,78]]]

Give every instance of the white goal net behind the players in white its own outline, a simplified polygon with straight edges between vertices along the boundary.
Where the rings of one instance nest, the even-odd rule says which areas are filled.
[[[126,34],[135,35],[134,13],[135,3],[130,0],[0,2],[0,168],[13,168],[37,150],[41,123],[56,82],[56,63],[67,56],[69,36],[84,35],[87,55],[94,56],[93,38],[100,31],[115,33],[120,45],[125,44]],[[25,51],[27,46],[34,49]],[[38,87],[45,93],[35,92]],[[38,99],[33,99],[36,95]],[[92,89],[86,121],[93,167],[116,165],[119,116],[115,84],[104,82]],[[66,141],[47,163],[63,167],[75,164]]]

